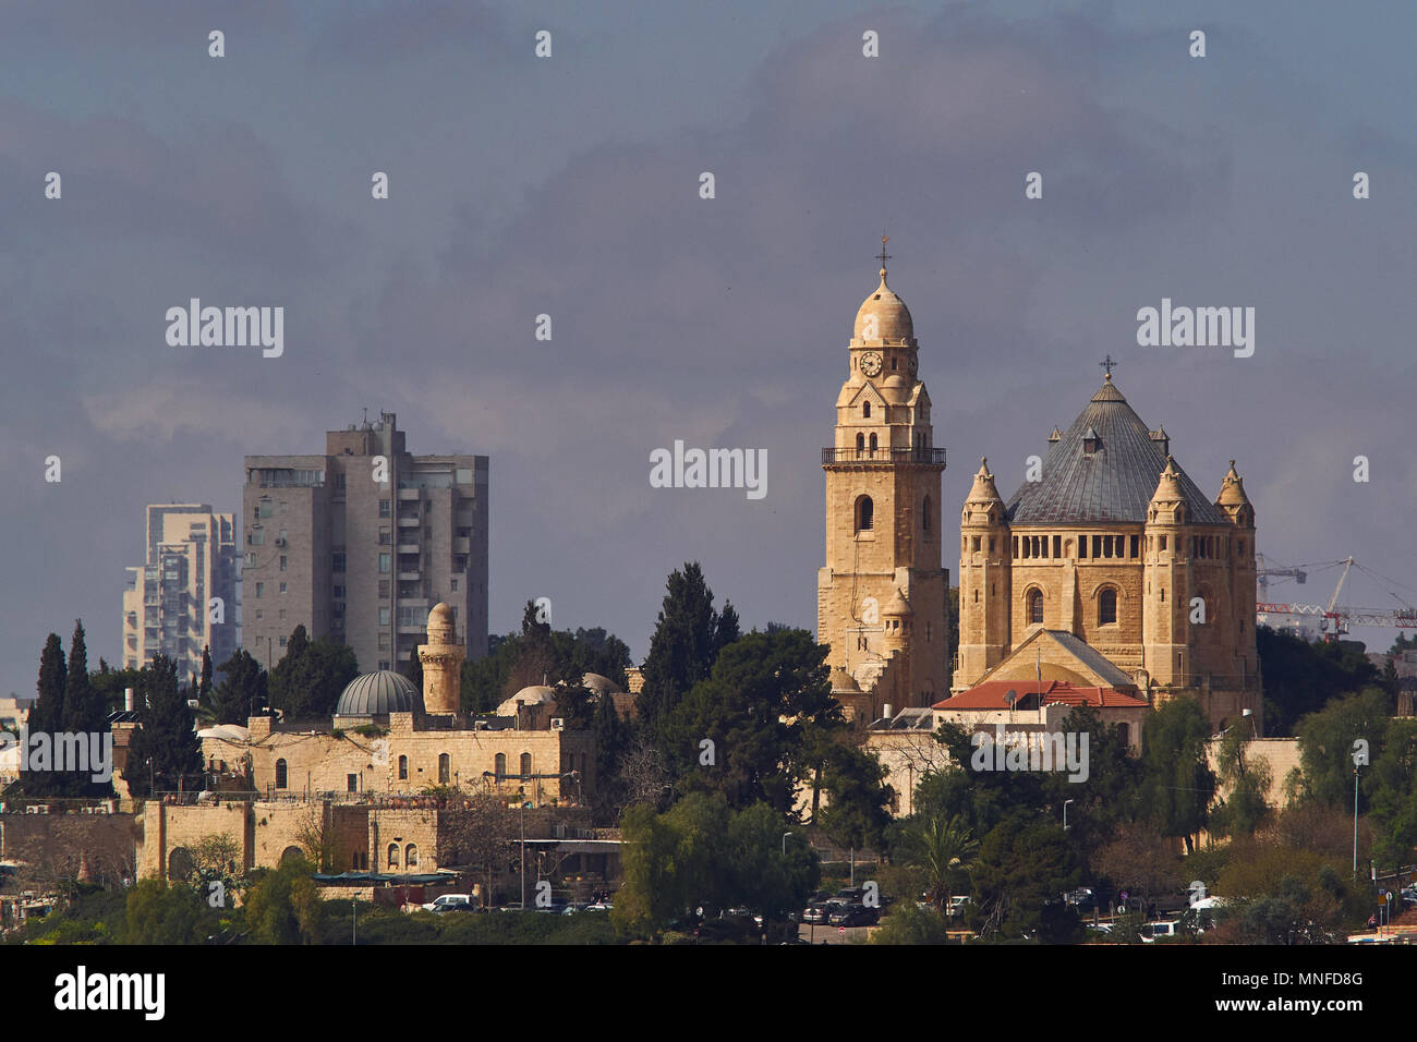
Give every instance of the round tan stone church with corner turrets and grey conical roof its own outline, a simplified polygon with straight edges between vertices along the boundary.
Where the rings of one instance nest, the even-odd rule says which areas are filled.
[[[1254,508],[1234,461],[1207,499],[1108,369],[1036,464],[1005,502],[982,461],[964,505],[954,690],[1066,680],[1261,724]]]

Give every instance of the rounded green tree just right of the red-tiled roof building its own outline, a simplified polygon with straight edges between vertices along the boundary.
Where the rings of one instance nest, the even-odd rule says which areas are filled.
[[[1163,836],[1180,836],[1186,851],[1206,825],[1216,775],[1206,758],[1210,722],[1200,703],[1176,698],[1151,715],[1142,732],[1142,807]]]

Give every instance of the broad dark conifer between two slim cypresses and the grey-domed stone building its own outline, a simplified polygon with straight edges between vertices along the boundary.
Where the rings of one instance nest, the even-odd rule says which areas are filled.
[[[135,797],[190,790],[203,780],[201,740],[177,683],[177,665],[154,655],[143,668],[143,706],[128,747],[123,780]]]

